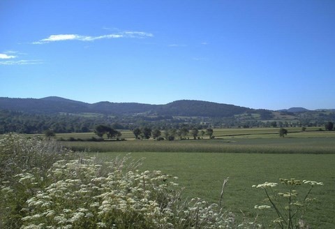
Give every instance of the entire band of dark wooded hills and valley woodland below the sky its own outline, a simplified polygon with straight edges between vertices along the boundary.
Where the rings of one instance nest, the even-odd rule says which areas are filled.
[[[297,109],[289,109],[297,110]],[[174,101],[166,105],[141,103],[82,103],[66,98],[0,98],[0,134],[90,132],[97,125],[115,129],[141,126],[181,128],[252,128],[325,126],[334,110],[253,110],[205,101]]]

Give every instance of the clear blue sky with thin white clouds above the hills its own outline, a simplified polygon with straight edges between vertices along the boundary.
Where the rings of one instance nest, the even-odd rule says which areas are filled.
[[[335,108],[335,1],[0,1],[0,96]]]

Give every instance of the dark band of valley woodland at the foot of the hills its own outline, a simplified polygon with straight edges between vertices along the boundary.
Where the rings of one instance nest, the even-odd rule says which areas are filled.
[[[328,121],[335,121],[335,112],[308,112],[299,114],[300,119],[291,121],[270,121],[254,118],[251,114],[244,117],[172,117],[172,116],[112,116],[105,114],[29,114],[10,110],[0,110],[0,134],[3,133],[87,133],[93,132],[98,125],[107,125],[114,129],[142,128],[151,130],[170,130],[170,138],[179,137],[177,131],[184,126],[191,131],[193,127],[206,128],[255,128],[255,127],[323,127]],[[262,115],[261,115],[262,116]],[[264,111],[263,116],[269,116]],[[328,128],[327,128],[328,129]],[[164,131],[166,132],[166,131]],[[182,134],[181,134],[182,135]],[[201,133],[200,133],[201,135]],[[144,136],[145,138],[145,136]],[[165,137],[166,138],[166,137]],[[180,138],[180,137],[179,137]]]

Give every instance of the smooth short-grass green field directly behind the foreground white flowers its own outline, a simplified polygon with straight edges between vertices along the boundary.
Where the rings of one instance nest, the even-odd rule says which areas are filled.
[[[106,152],[94,154],[103,160],[126,153]],[[313,228],[335,226],[335,154],[217,154],[217,153],[133,153],[131,158],[145,158],[141,170],[161,170],[179,177],[185,187],[184,195],[218,202],[221,186],[229,178],[223,202],[225,209],[234,213],[244,212],[253,219],[255,205],[261,205],[265,194],[253,189],[253,184],[278,182],[279,178],[308,179],[324,182],[315,188],[316,207],[306,216],[313,221]],[[263,203],[264,204],[264,203]]]

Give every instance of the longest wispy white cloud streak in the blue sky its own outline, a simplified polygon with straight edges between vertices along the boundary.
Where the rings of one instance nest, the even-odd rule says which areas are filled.
[[[141,32],[141,31],[124,31],[118,34],[106,34],[102,36],[82,36],[78,34],[58,34],[58,35],[51,35],[48,38],[44,38],[33,42],[34,45],[38,44],[45,44],[57,41],[64,41],[64,40],[80,40],[80,41],[94,41],[94,40],[101,40],[101,39],[113,39],[113,38],[145,38],[145,37],[152,37],[153,34]]]

